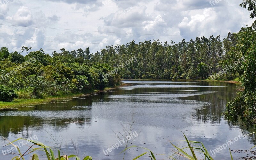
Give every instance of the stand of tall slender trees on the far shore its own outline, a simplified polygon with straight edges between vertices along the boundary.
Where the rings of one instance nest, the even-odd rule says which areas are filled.
[[[127,45],[106,46],[91,55],[90,60],[118,66],[135,56],[137,62],[119,72],[123,79],[208,79],[224,67],[224,61],[230,58],[227,53],[237,41],[236,33],[229,33],[223,40],[220,36],[197,37],[177,44],[159,40],[138,44],[132,41]],[[237,76],[230,71],[216,79],[231,80]]]

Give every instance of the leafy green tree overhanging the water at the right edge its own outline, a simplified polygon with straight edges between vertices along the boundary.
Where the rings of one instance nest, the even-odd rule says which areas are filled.
[[[239,73],[240,82],[244,86],[244,91],[236,99],[228,103],[224,115],[232,122],[236,122],[240,118],[247,126],[256,124],[255,28],[255,23],[251,27],[246,26],[242,28],[236,35],[238,44],[231,47],[231,50],[228,52],[229,57],[234,60],[244,59],[242,63],[239,63],[233,68],[233,70]]]

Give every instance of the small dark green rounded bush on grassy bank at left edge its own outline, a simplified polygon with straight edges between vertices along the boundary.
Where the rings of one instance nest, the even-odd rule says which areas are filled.
[[[0,101],[12,102],[14,98],[18,98],[18,96],[12,88],[0,85]]]

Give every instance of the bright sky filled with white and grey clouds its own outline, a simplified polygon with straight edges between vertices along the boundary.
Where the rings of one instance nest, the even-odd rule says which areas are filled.
[[[213,1],[213,0],[212,0]],[[91,53],[148,40],[179,43],[252,25],[242,0],[0,0],[0,47]],[[211,2],[211,3],[210,3]],[[20,27],[26,26],[26,27]]]

